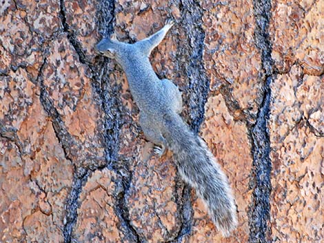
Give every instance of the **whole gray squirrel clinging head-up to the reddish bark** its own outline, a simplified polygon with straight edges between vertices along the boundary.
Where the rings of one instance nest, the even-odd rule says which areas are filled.
[[[168,20],[161,30],[133,44],[117,41],[112,35],[102,39],[96,49],[123,68],[140,110],[139,124],[145,137],[156,145],[156,154],[162,156],[165,148],[173,152],[181,177],[196,189],[219,231],[229,236],[237,225],[230,184],[205,142],[179,116],[182,98],[178,87],[168,79],[159,79],[149,61],[150,52],[172,25]]]

